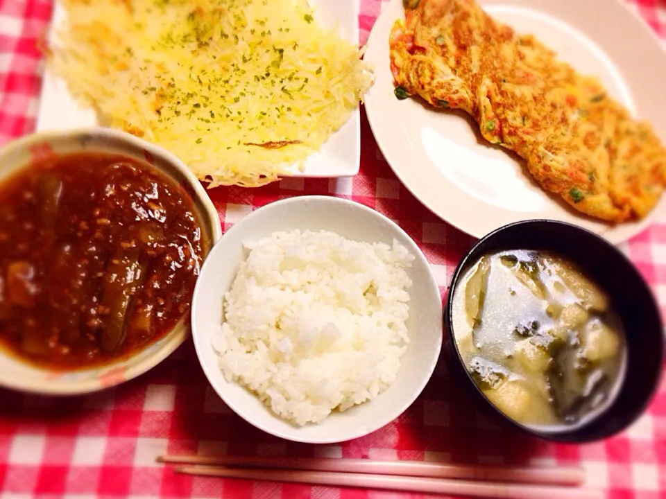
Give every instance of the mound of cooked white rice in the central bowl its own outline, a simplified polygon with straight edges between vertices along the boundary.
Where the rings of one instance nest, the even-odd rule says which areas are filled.
[[[326,231],[278,232],[246,248],[212,341],[227,380],[300,426],[393,383],[409,342],[407,248]]]

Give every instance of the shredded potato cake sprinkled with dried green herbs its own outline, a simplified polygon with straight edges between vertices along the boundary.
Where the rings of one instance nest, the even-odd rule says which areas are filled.
[[[209,187],[302,165],[373,83],[305,0],[62,0],[49,64],[112,127],[174,152]]]

